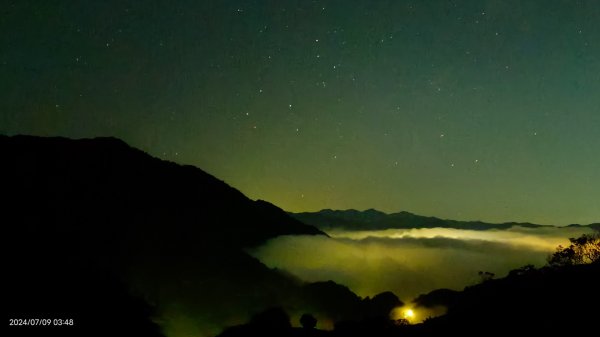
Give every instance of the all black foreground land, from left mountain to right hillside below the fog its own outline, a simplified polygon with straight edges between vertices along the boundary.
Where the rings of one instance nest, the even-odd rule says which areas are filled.
[[[589,256],[574,240],[547,267],[424,295],[415,305],[448,313],[407,325],[389,319],[402,305],[392,293],[363,299],[333,282],[305,284],[248,255],[278,235],[325,234],[200,169],[112,138],[0,136],[0,155],[7,336],[162,336],[182,316],[214,335],[231,326],[223,337],[598,330],[597,236],[584,242]],[[292,328],[302,313],[304,328]],[[314,317],[335,329],[315,329]]]

